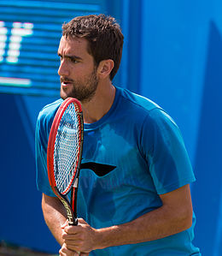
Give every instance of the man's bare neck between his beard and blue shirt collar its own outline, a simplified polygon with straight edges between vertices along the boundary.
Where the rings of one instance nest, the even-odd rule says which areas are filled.
[[[82,103],[85,123],[92,123],[100,120],[106,115],[114,103],[115,87],[111,81],[99,83],[96,93],[89,102]]]

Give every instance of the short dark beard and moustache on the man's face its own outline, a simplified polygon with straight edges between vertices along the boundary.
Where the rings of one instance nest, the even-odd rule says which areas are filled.
[[[71,80],[63,76],[61,77],[61,82],[62,81],[72,83],[72,88],[67,88],[67,90],[61,87],[60,95],[62,99],[72,97],[77,98],[81,103],[89,102],[95,95],[98,86],[96,68],[94,68],[92,73],[85,79]]]

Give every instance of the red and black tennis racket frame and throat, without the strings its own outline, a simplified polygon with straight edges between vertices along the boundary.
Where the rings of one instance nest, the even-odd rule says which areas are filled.
[[[64,193],[60,193],[59,190],[56,188],[55,173],[54,173],[55,138],[61,122],[61,118],[69,104],[75,105],[75,109],[77,109],[77,113],[79,116],[79,127],[80,127],[79,162],[76,166],[76,169],[74,170],[73,179],[72,179],[72,182],[70,182],[69,187],[66,189]],[[77,192],[78,192],[78,185],[79,185],[79,170],[80,170],[82,150],[83,150],[83,134],[84,134],[84,121],[83,121],[81,104],[79,103],[79,100],[77,100],[76,98],[70,98],[70,97],[66,98],[60,105],[59,109],[56,111],[54,121],[50,128],[50,137],[49,137],[48,148],[47,148],[47,169],[48,169],[50,187],[52,188],[52,191],[55,193],[57,198],[60,199],[61,203],[64,205],[67,211],[68,223],[70,225],[78,224]],[[67,196],[67,193],[69,193],[70,190],[71,190],[71,199],[70,199],[71,202],[69,202],[69,199]]]

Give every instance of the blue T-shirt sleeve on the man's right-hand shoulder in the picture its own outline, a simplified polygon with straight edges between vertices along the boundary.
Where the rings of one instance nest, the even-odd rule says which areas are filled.
[[[168,193],[195,181],[182,135],[165,111],[149,111],[141,140],[157,193]]]

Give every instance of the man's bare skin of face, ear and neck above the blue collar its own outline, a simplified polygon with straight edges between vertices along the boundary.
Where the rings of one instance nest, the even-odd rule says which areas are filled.
[[[61,78],[61,98],[78,98],[85,122],[96,122],[114,102],[115,88],[109,79],[114,62],[104,60],[96,67],[87,51],[87,44],[85,39],[61,37],[58,74]]]

